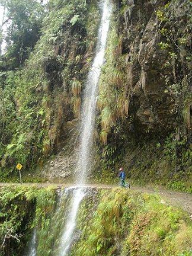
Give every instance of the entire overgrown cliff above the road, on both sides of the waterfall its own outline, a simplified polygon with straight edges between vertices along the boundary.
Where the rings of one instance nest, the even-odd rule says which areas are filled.
[[[1,4],[9,20],[0,58],[1,180],[17,175],[17,162],[25,174],[72,178],[100,4]],[[123,166],[134,183],[191,192],[190,1],[111,4],[92,172],[110,180]]]

